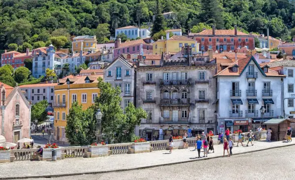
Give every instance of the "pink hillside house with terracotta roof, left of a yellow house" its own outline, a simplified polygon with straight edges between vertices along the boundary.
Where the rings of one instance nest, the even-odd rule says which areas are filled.
[[[116,39],[114,48],[114,59],[121,54],[153,54],[153,45],[150,38],[127,40],[121,43],[121,39]]]

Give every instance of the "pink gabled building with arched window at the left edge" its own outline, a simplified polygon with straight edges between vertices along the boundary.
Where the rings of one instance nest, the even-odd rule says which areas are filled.
[[[30,138],[31,105],[20,87],[0,82],[0,132],[6,142]]]

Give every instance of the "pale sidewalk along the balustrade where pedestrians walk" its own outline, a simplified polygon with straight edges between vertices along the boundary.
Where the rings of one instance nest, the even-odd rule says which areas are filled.
[[[246,143],[245,143],[246,144]],[[293,142],[253,142],[253,146],[234,147],[232,153],[253,152],[274,147],[295,145]],[[235,143],[236,145],[236,143]],[[176,149],[169,154],[168,150],[153,151],[138,154],[119,154],[97,158],[72,158],[51,161],[19,161],[12,163],[0,163],[0,180],[11,177],[50,177],[51,175],[69,176],[70,174],[79,175],[80,173],[119,171],[149,166],[159,166],[165,164],[176,164],[181,162],[204,160],[220,157],[223,155],[223,145],[215,145],[215,153],[209,153],[208,158],[197,159],[197,151],[194,147],[188,149]],[[201,154],[202,154],[201,150]],[[230,157],[226,157],[230,158]],[[42,168],[40,168],[42,167]]]

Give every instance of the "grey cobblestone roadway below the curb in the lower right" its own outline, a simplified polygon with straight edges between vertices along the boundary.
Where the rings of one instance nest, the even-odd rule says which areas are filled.
[[[50,180],[294,180],[294,149],[280,147],[171,166]]]

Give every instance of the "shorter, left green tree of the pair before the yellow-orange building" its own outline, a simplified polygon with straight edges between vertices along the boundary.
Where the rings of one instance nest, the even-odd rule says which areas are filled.
[[[94,108],[83,110],[74,102],[66,115],[66,138],[71,145],[89,145],[95,141],[96,120]]]

